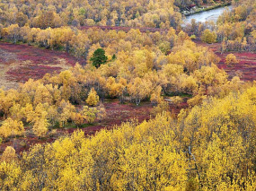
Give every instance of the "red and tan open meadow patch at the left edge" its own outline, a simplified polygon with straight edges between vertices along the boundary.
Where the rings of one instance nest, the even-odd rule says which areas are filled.
[[[66,52],[0,42],[0,87],[17,88],[19,82],[38,80],[45,74],[60,73],[79,62]]]

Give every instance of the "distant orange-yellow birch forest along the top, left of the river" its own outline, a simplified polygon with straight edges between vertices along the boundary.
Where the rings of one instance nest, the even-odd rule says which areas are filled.
[[[178,7],[215,3],[212,0],[1,0],[0,2],[2,25],[27,24],[40,29],[66,25],[176,28],[181,23]]]

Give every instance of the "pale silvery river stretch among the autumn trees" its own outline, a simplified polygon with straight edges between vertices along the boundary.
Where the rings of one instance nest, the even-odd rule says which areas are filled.
[[[222,14],[225,11],[226,8],[231,10],[232,5],[218,7],[216,9],[212,9],[212,10],[209,10],[209,11],[206,11],[206,12],[191,14],[190,16],[187,16],[183,20],[183,22],[184,22],[183,24],[185,25],[185,24],[190,23],[192,19],[195,19],[196,22],[209,22],[209,21],[216,22],[218,16],[220,14]]]

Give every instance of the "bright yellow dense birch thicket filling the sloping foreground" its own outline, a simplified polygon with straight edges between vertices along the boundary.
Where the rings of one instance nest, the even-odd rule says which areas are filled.
[[[255,190],[256,88],[84,138],[6,149],[4,190]]]

